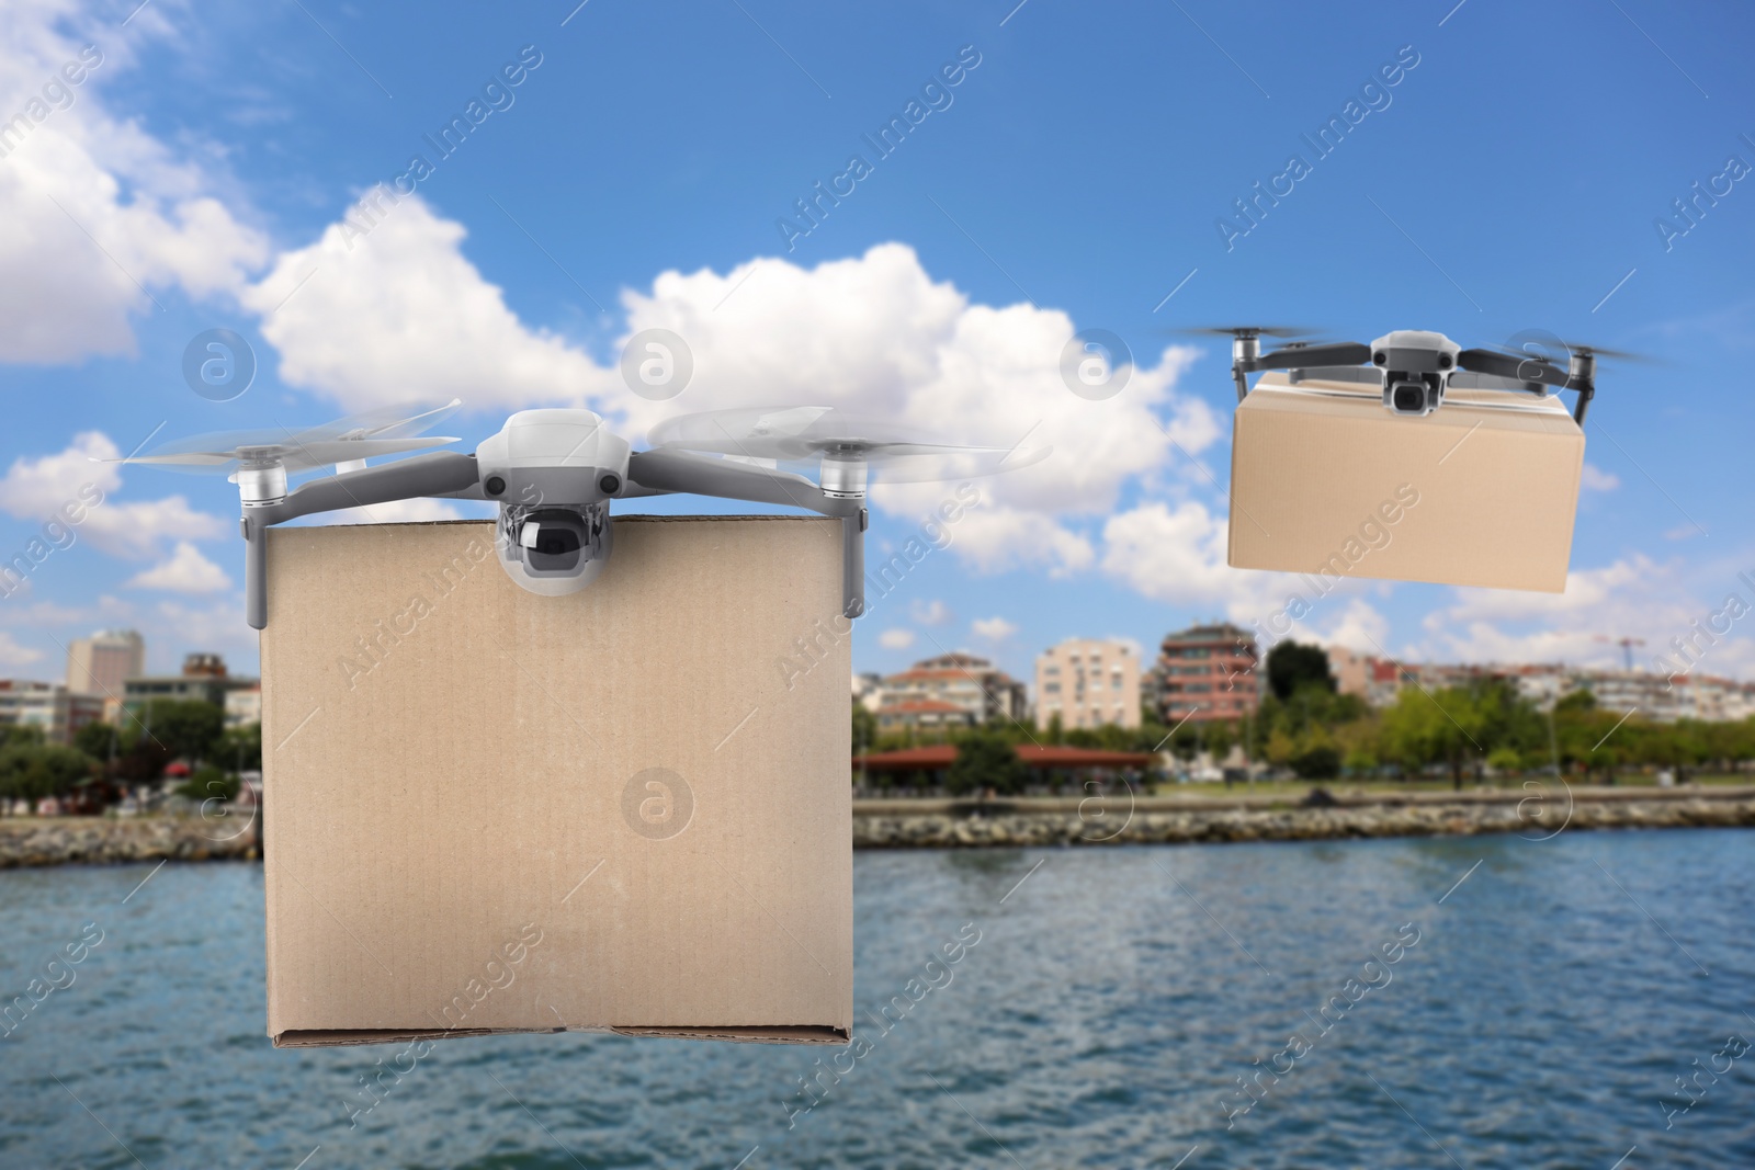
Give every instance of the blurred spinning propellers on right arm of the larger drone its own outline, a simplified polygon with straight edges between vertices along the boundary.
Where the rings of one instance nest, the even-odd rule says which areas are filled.
[[[818,463],[823,491],[863,495],[867,468],[890,482],[932,482],[1013,472],[1046,460],[1051,447],[986,447],[921,442],[895,423],[837,407],[734,407],[665,419],[655,447],[739,460]]]

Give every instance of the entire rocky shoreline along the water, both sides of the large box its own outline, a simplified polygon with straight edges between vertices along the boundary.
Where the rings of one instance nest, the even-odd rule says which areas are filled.
[[[0,870],[37,865],[216,861],[261,856],[239,816],[0,817]],[[1546,788],[1464,793],[855,800],[855,849],[1192,844],[1518,833],[1604,828],[1755,828],[1755,788]]]

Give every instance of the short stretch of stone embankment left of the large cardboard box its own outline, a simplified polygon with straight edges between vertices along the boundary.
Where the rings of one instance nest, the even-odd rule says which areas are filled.
[[[19,865],[256,858],[254,821],[225,817],[0,817],[0,870]]]

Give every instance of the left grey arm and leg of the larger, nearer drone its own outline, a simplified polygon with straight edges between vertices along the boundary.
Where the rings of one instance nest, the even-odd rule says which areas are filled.
[[[474,488],[476,456],[433,451],[383,467],[314,479],[274,503],[244,505],[244,609],[253,630],[269,624],[269,526],[312,512],[439,496]]]

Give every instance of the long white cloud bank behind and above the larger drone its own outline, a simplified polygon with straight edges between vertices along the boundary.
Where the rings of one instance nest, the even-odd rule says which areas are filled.
[[[693,356],[683,393],[651,402],[623,384],[616,361],[598,365],[521,323],[462,254],[463,226],[418,196],[353,235],[332,225],[244,295],[272,314],[261,332],[284,381],[349,410],[397,402],[411,384],[470,405],[590,402],[634,440],[674,414],[823,403],[928,439],[1053,446],[1049,460],[983,481],[981,507],[956,524],[956,554],[981,570],[1088,568],[1088,537],[1060,517],[1104,514],[1128,481],[1186,463],[1178,446],[1197,454],[1221,433],[1202,400],[1174,391],[1195,351],[1165,347],[1157,365],[1128,372],[1118,396],[1088,402],[1060,379],[1074,333],[1065,312],[971,303],[902,244],[814,268],[758,258],[723,275],[672,270],[649,291],[623,291],[616,353],[663,328]],[[874,503],[899,516],[946,495],[942,484],[883,484],[881,468],[876,479]]]

